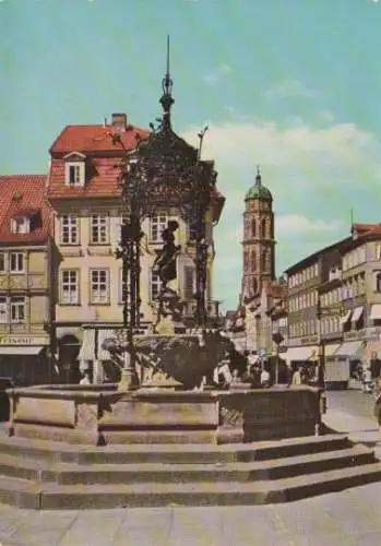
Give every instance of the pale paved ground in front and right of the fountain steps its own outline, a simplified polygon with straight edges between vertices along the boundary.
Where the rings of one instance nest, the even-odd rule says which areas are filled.
[[[378,454],[374,420],[343,410],[329,411],[328,426]],[[263,507],[35,512],[0,506],[0,545],[379,546],[380,508],[381,483]]]

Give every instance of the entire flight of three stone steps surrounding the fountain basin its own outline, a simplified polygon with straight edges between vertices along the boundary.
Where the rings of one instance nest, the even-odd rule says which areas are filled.
[[[205,446],[68,446],[0,438],[0,502],[33,509],[284,502],[381,479],[344,435]]]

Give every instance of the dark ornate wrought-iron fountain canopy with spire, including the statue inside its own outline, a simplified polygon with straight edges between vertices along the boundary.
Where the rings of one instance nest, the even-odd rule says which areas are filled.
[[[210,245],[206,238],[205,214],[215,193],[217,174],[213,168],[213,162],[201,161],[202,143],[207,127],[198,134],[200,141],[198,150],[172,131],[170,109],[175,99],[171,90],[168,37],[167,70],[159,99],[163,117],[156,119],[156,126],[150,124],[148,136],[136,140],[136,146],[132,152],[126,151],[126,168],[120,179],[124,222],[117,258],[122,260],[124,366],[121,383],[126,390],[139,385],[133,336],[140,328],[141,320],[140,247],[143,236],[141,226],[142,222],[152,217],[159,207],[176,209],[189,225],[189,233],[194,234],[195,324],[204,329],[207,320],[205,293]],[[121,139],[119,142],[121,143]],[[158,260],[160,261],[158,276],[162,281],[158,313],[163,311],[164,301],[167,305],[168,301],[172,301],[174,290],[167,288],[167,282],[174,278],[168,277],[168,263],[175,260],[176,264],[176,252],[178,252],[178,248],[174,246],[174,229],[170,229],[169,223],[165,232],[167,234],[162,235],[165,244]]]

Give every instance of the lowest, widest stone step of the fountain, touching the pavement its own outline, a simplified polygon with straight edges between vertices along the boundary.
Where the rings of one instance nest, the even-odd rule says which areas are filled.
[[[119,485],[37,485],[0,478],[0,501],[45,510],[160,506],[253,506],[338,491],[381,478],[381,464],[367,464],[276,480]]]

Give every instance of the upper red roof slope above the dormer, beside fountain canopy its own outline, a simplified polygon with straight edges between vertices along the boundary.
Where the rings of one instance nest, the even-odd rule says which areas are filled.
[[[133,150],[140,139],[147,136],[148,131],[128,126],[121,133],[121,143],[112,141],[110,126],[67,126],[50,146],[50,154],[69,154],[70,152],[96,153]]]

